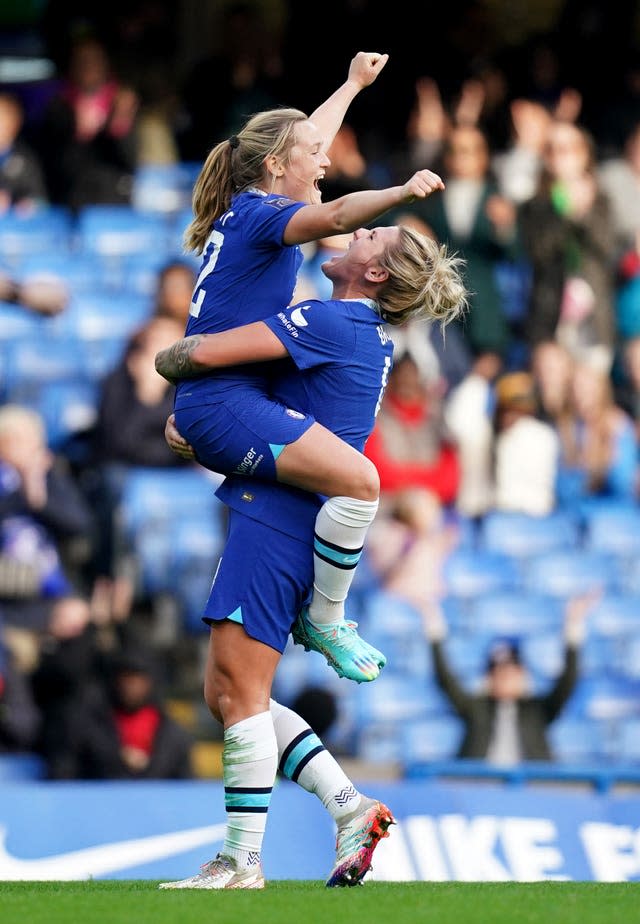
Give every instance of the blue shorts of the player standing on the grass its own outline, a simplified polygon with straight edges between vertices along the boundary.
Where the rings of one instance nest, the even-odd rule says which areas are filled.
[[[251,638],[283,652],[312,585],[312,531],[302,542],[231,509],[202,619],[209,626],[231,619]]]

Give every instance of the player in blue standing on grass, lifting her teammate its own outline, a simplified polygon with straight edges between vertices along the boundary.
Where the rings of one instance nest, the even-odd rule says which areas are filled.
[[[192,375],[288,356],[293,365],[274,379],[274,395],[284,405],[296,401],[305,416],[313,414],[360,452],[391,368],[393,343],[383,322],[446,323],[458,316],[466,305],[459,263],[412,229],[360,229],[344,256],[323,264],[333,299],[187,337],[159,354],[158,365],[167,375]],[[261,848],[278,767],[321,799],[336,821],[327,885],[357,885],[393,816],[358,792],[300,716],[270,698],[291,626],[308,598],[320,501],[247,474],[225,479],[217,493],[229,507],[229,533],[203,617],[211,626],[204,693],[224,725],[227,830],[220,854],[198,874],[161,887],[263,887]]]

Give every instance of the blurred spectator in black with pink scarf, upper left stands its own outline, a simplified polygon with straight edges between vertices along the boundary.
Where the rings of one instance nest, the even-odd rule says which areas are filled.
[[[113,75],[104,45],[91,36],[77,39],[62,88],[39,126],[52,202],[73,209],[129,204],[138,107],[136,92]]]

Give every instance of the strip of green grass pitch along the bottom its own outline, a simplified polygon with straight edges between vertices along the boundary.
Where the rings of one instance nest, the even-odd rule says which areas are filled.
[[[640,920],[637,883],[270,882],[159,891],[149,880],[2,882],[2,924],[602,924]]]

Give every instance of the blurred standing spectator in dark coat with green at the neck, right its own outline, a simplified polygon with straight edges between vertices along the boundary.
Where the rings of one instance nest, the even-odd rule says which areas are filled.
[[[532,267],[527,336],[557,339],[607,372],[613,361],[615,236],[587,132],[555,121],[536,195],[520,210]]]

